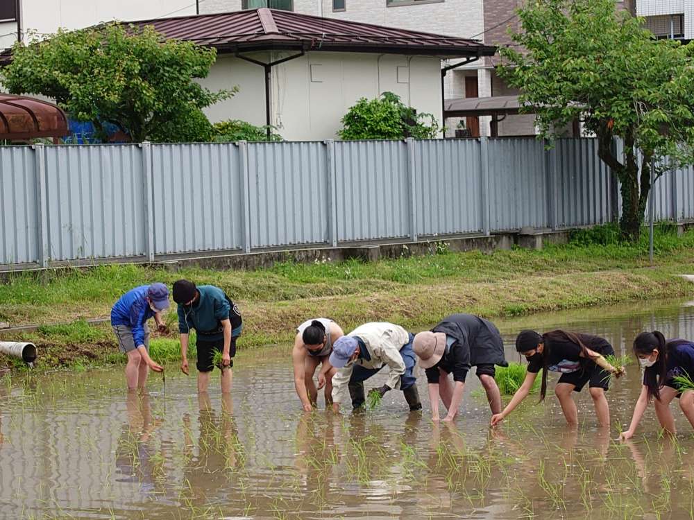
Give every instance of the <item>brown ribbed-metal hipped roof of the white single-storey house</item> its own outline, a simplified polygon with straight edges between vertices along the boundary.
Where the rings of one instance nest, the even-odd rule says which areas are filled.
[[[478,40],[268,8],[129,23],[153,26],[167,38],[214,47],[220,53],[297,50],[466,58],[493,55],[496,50]]]

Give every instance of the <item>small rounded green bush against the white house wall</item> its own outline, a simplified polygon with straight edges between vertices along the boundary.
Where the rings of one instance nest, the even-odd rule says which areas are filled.
[[[429,124],[425,124],[428,122]],[[341,139],[432,139],[439,125],[432,114],[417,114],[400,96],[384,92],[369,101],[361,98],[342,118]]]

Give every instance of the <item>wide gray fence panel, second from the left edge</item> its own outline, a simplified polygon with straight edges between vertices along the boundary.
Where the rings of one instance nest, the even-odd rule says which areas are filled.
[[[52,260],[144,254],[142,150],[46,146],[47,255]]]

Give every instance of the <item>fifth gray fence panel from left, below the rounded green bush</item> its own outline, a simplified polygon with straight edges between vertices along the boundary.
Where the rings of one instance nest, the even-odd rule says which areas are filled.
[[[409,236],[407,144],[336,141],[339,241]]]

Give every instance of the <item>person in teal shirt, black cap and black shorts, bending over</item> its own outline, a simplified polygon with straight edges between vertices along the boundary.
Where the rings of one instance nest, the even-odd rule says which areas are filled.
[[[185,279],[174,283],[173,293],[174,302],[178,304],[180,370],[188,374],[188,335],[190,329],[195,329],[198,392],[208,391],[216,351],[221,352],[221,391],[231,392],[231,367],[234,365],[232,358],[236,354],[236,340],[243,328],[238,306],[219,287],[196,286]]]

